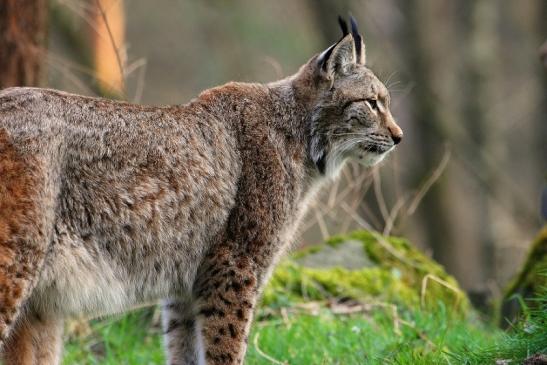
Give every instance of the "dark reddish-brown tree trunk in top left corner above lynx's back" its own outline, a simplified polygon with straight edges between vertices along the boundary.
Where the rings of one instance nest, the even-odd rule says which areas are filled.
[[[47,0],[0,1],[0,88],[43,80]]]

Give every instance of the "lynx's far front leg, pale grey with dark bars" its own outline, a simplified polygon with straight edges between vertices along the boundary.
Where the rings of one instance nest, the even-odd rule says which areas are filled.
[[[167,364],[205,364],[193,301],[190,299],[165,301],[162,319]]]

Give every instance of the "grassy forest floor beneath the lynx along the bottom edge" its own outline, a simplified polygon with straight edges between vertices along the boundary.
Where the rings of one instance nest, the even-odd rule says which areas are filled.
[[[547,353],[547,297],[509,331],[475,314],[404,310],[385,303],[310,302],[259,310],[246,364],[521,364]],[[63,364],[163,364],[156,308],[95,320],[71,338]],[[538,362],[539,364],[540,362]],[[530,362],[530,364],[532,364]]]

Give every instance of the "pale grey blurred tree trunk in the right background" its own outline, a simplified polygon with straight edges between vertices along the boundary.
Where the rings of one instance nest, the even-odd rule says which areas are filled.
[[[497,99],[494,88],[497,86],[496,76],[500,65],[496,36],[498,8],[497,3],[488,0],[466,0],[462,5],[464,11],[461,14],[461,32],[468,52],[462,81],[463,87],[469,90],[462,100],[462,122],[469,138],[465,143],[469,148],[465,149],[464,158],[474,165],[472,169],[481,172],[483,180],[473,198],[473,207],[479,245],[475,252],[482,263],[478,279],[486,283],[494,280],[496,271],[497,241],[492,229],[496,220],[503,219],[499,216],[500,212],[492,207],[495,204],[492,195],[499,196],[496,192],[503,194],[503,188],[499,185],[499,179],[493,176],[492,166],[489,164],[491,161],[503,160],[500,158],[504,153],[503,149],[498,148],[502,145],[499,141],[503,137],[499,135],[500,128],[496,128],[495,121],[492,120],[493,113],[487,109],[495,105]],[[477,291],[475,305],[486,305],[488,289],[476,285],[474,290]]]

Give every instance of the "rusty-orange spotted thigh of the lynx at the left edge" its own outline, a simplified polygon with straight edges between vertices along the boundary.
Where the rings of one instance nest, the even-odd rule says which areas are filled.
[[[21,155],[0,129],[0,351],[43,264],[53,226],[46,159]]]

